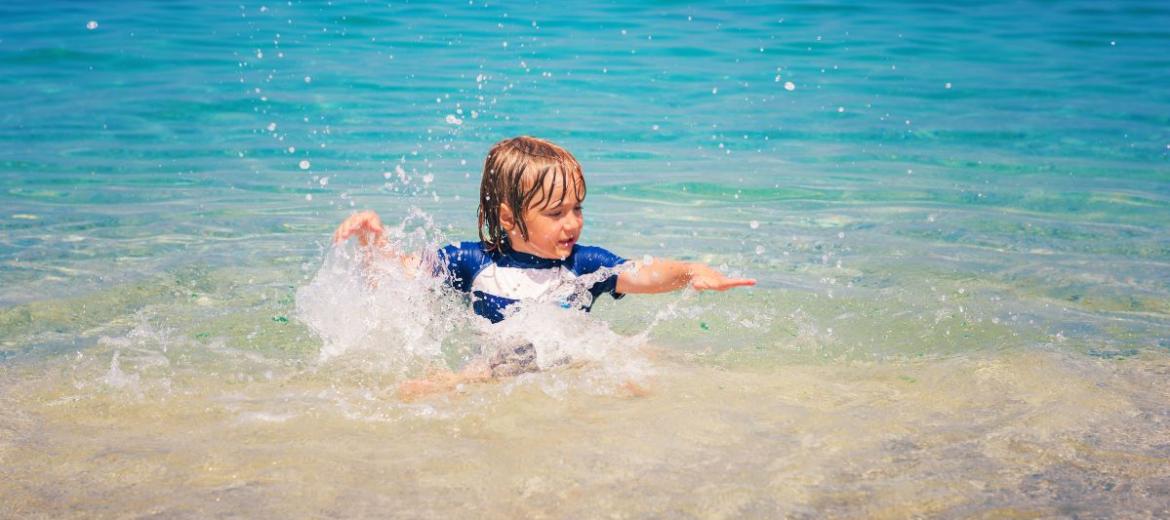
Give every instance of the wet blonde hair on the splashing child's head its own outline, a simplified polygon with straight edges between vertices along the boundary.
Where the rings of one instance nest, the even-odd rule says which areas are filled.
[[[570,186],[578,203],[585,199],[585,175],[569,150],[529,136],[496,143],[483,162],[480,180],[480,240],[488,251],[510,247],[500,221],[501,205],[511,210],[516,228],[528,240],[524,210],[544,210],[560,201]]]

